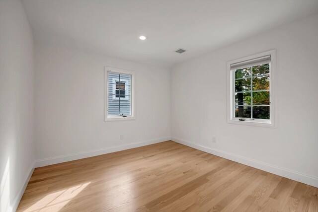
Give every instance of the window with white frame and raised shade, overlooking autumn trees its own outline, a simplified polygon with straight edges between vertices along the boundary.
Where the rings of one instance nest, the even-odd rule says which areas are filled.
[[[228,122],[274,126],[274,61],[273,50],[228,63]]]

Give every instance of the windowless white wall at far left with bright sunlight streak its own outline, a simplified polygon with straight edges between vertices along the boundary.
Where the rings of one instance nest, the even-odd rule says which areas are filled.
[[[15,211],[34,165],[33,37],[22,4],[0,1],[0,211]]]

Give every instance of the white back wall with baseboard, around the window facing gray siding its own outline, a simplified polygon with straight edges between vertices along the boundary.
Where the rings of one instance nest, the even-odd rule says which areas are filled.
[[[35,61],[36,166],[169,140],[169,70],[40,43]],[[136,120],[104,122],[104,66],[136,71]]]

